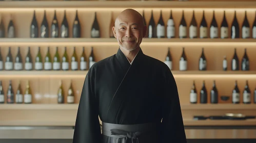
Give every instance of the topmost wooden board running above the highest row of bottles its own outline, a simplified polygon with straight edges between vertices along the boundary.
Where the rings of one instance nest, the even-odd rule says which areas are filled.
[[[256,2],[179,1],[1,1],[1,9],[15,8],[256,8]],[[113,9],[112,9],[113,10]]]

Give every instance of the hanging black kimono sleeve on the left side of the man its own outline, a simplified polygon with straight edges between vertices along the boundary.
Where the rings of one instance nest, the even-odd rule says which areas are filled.
[[[99,102],[95,98],[94,79],[90,71],[91,70],[89,70],[86,75],[77,110],[73,143],[101,142]]]

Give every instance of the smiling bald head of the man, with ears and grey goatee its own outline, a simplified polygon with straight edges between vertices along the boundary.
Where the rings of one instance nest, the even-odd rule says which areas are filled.
[[[115,20],[115,27],[112,28],[120,47],[128,51],[140,46],[146,29],[141,14],[132,9],[121,12]]]

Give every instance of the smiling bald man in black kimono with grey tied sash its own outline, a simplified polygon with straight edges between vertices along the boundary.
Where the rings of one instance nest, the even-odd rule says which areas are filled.
[[[141,50],[146,29],[142,15],[133,9],[117,16],[113,33],[120,48],[86,75],[73,143],[186,142],[171,71]]]

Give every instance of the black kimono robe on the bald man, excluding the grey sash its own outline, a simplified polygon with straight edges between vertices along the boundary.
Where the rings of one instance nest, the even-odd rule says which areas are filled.
[[[132,64],[119,49],[89,69],[73,143],[115,143],[115,138],[101,133],[99,116],[102,122],[112,124],[160,123],[155,143],[186,142],[173,75],[164,62],[144,55],[141,49]]]

